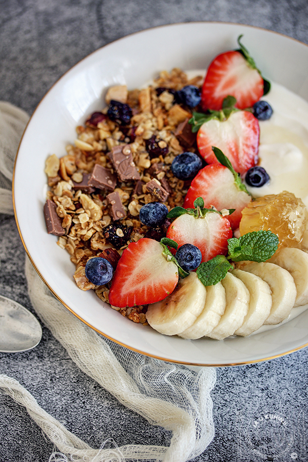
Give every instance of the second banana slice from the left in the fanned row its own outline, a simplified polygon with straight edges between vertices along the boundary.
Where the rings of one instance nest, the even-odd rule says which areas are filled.
[[[226,307],[225,290],[221,282],[206,287],[204,308],[194,324],[185,329],[180,337],[196,339],[209,334],[217,326]]]

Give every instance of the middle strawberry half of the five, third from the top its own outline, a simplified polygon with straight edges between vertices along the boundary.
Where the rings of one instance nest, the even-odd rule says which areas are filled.
[[[219,163],[206,165],[199,171],[190,184],[183,207],[192,208],[197,197],[202,197],[207,208],[235,209],[227,216],[234,230],[239,227],[242,209],[251,201],[251,196],[235,184],[232,172]]]

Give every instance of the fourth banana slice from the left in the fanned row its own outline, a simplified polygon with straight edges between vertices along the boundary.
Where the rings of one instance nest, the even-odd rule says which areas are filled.
[[[272,292],[267,282],[253,273],[241,269],[233,269],[231,273],[245,284],[250,296],[244,322],[235,331],[236,335],[246,336],[257,331],[271,313]]]

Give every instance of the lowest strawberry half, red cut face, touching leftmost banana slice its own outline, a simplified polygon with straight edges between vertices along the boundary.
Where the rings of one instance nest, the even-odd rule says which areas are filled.
[[[167,297],[178,283],[178,267],[162,254],[163,246],[142,238],[124,250],[115,269],[109,302],[120,308],[155,303]]]

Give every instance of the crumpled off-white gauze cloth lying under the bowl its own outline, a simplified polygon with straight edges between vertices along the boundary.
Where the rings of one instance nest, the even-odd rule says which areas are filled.
[[[0,213],[13,213],[13,163],[27,120],[24,111],[0,102]],[[210,391],[215,385],[215,369],[188,368],[149,358],[103,338],[53,297],[26,260],[28,292],[34,310],[72,360],[124,406],[138,412],[150,424],[172,432],[169,447],[118,447],[115,441],[114,448],[106,449],[103,441],[100,449],[93,449],[38,406],[14,378],[0,375],[2,393],[26,407],[57,448],[49,460],[186,462],[200,455],[214,437]]]

